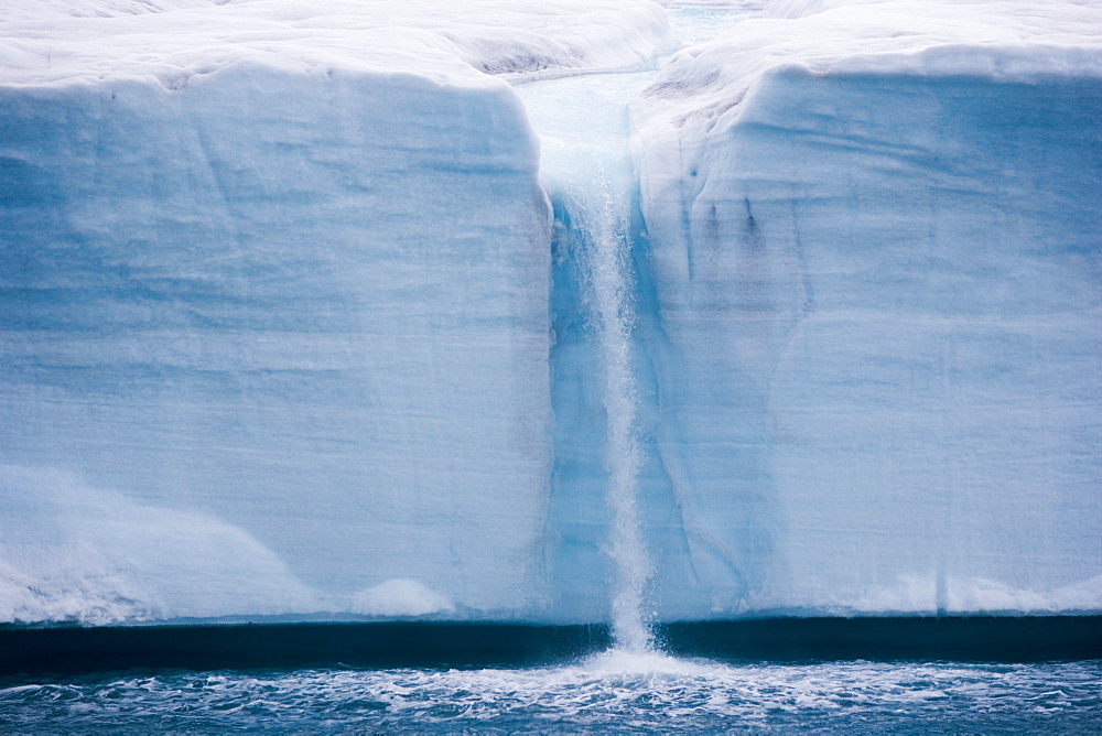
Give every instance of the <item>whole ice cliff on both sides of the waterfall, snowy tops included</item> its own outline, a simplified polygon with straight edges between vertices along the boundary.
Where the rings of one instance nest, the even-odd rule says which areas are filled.
[[[1100,33],[775,1],[638,96],[655,615],[1102,609]],[[644,1],[0,0],[0,621],[606,617],[510,82],[673,47]]]

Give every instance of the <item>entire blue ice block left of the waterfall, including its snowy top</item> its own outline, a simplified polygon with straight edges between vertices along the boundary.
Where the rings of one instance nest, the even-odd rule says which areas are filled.
[[[0,621],[547,615],[550,207],[489,74],[646,0],[0,3]]]

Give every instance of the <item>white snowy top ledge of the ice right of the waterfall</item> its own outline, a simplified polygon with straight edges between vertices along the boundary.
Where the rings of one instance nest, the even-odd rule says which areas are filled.
[[[636,127],[726,129],[760,79],[792,69],[1102,78],[1102,8],[1072,0],[804,0],[770,3],[765,15],[676,54],[634,106]]]

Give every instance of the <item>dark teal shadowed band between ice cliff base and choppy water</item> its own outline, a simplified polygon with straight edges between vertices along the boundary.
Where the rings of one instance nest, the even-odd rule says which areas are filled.
[[[676,657],[727,662],[1102,658],[1102,616],[770,618],[656,627]],[[606,650],[604,625],[298,623],[0,629],[0,674],[130,669],[520,668]]]

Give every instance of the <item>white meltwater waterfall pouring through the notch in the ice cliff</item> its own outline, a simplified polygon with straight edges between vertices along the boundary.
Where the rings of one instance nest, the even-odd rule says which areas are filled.
[[[519,90],[543,133],[543,186],[555,203],[560,237],[573,264],[568,280],[576,283],[568,289],[577,289],[580,294],[571,299],[579,299],[576,306],[585,314],[584,335],[571,335],[590,348],[583,350],[588,362],[577,369],[593,377],[599,393],[591,409],[604,409],[604,436],[593,437],[604,447],[602,491],[609,512],[607,535],[599,543],[612,562],[613,639],[616,649],[629,652],[653,649],[644,613],[651,562],[638,508],[644,453],[631,350],[636,316],[629,212],[635,175],[627,150],[627,100],[650,76],[559,79]]]

